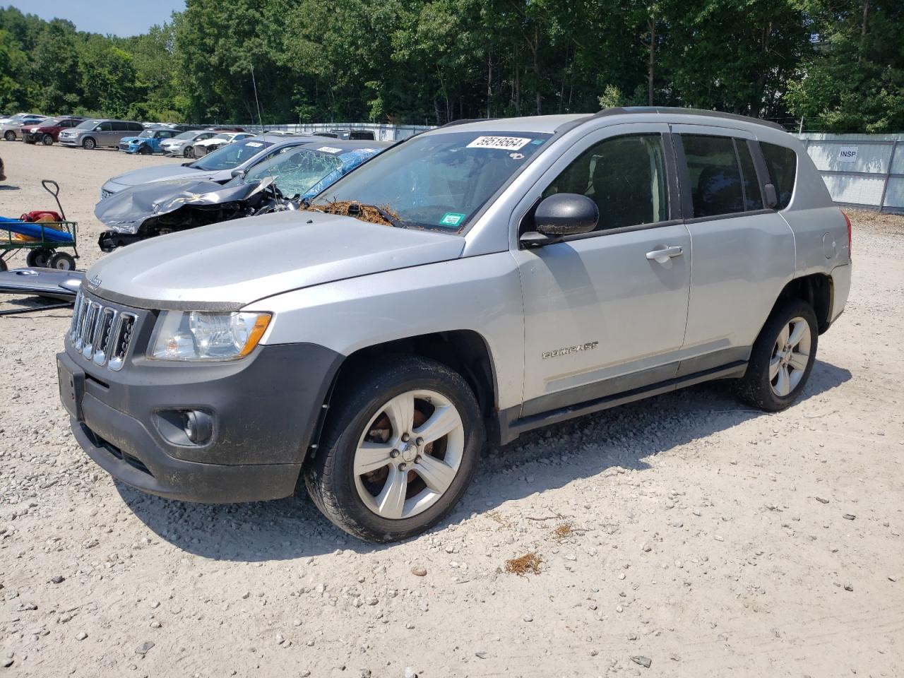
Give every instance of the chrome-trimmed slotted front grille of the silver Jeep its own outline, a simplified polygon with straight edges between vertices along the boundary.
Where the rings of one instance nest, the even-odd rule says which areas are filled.
[[[104,306],[79,291],[72,307],[69,338],[75,350],[96,365],[121,370],[135,332],[137,315]]]

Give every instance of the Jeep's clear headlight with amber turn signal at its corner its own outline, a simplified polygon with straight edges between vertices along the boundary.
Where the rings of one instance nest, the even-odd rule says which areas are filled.
[[[258,345],[268,313],[164,311],[157,318],[148,358],[155,360],[237,360]]]

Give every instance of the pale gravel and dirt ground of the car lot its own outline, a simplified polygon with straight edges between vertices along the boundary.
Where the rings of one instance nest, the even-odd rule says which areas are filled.
[[[0,143],[0,214],[56,178],[99,252],[113,174]],[[18,186],[19,189],[13,188]],[[434,531],[372,546],[302,497],[168,502],[71,438],[69,314],[0,318],[0,664],[33,676],[904,675],[904,218],[854,216],[854,285],[805,399],[710,384],[489,450]],[[536,553],[539,574],[505,571]],[[423,568],[426,576],[412,570]],[[645,666],[649,664],[649,666]]]

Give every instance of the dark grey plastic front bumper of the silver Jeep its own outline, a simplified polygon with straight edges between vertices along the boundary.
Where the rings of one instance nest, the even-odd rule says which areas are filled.
[[[132,312],[133,345],[121,370],[83,357],[68,336],[57,355],[61,397],[77,400],[72,432],[89,457],[127,485],[173,499],[219,504],[292,494],[341,356],[281,344],[228,363],[149,361],[155,315]],[[68,383],[80,385],[66,391]],[[176,410],[208,414],[209,442],[181,436]]]

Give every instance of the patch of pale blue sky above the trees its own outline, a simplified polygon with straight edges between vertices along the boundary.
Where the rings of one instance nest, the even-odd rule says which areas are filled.
[[[69,19],[80,31],[128,37],[169,21],[170,14],[184,10],[185,0],[0,0],[0,5],[42,19]]]

